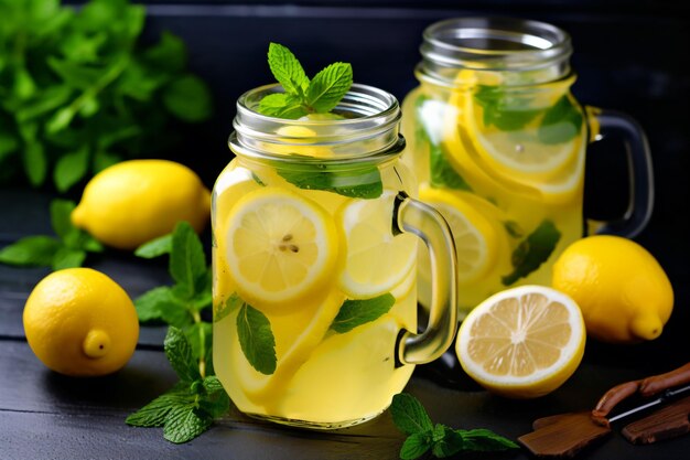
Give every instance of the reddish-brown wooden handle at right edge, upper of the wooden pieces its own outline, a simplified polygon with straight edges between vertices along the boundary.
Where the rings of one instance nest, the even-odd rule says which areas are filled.
[[[616,385],[601,397],[592,410],[592,420],[597,425],[608,426],[606,416],[623,399],[639,393],[642,396],[651,396],[677,385],[690,383],[690,363],[666,374],[653,375],[639,381],[626,382]]]

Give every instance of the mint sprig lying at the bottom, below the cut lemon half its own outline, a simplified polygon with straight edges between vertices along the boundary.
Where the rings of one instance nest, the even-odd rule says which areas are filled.
[[[408,435],[400,449],[402,460],[417,459],[429,450],[436,458],[446,458],[461,451],[503,451],[518,446],[488,429],[453,429],[433,424],[422,404],[412,395],[393,396],[390,405],[393,424]]]

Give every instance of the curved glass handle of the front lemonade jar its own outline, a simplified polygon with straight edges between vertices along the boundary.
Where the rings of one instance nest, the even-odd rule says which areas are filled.
[[[419,236],[431,255],[431,307],[422,333],[401,331],[397,344],[399,364],[424,364],[449,349],[457,327],[456,255],[451,229],[428,204],[398,193],[393,207],[393,233]]]

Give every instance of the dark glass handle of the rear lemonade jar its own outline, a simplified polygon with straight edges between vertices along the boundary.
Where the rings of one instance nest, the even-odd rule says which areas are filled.
[[[590,141],[597,141],[608,132],[624,138],[628,158],[630,201],[618,221],[594,222],[594,233],[634,238],[647,225],[654,208],[654,174],[647,136],[639,124],[626,114],[586,107]],[[593,222],[593,221],[591,221]]]

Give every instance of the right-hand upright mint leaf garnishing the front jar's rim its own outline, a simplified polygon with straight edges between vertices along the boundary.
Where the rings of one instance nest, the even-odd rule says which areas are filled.
[[[331,111],[353,84],[353,67],[337,62],[319,72],[306,90],[306,104],[316,113]]]

